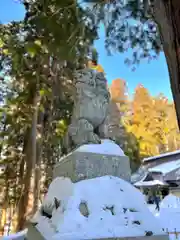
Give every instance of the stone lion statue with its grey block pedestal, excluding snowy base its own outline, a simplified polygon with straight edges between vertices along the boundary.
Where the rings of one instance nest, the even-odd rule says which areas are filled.
[[[114,175],[130,181],[128,157],[108,140],[110,94],[104,74],[91,69],[77,71],[75,86],[74,111],[65,138],[69,154],[55,166],[53,177],[66,176],[77,182]]]

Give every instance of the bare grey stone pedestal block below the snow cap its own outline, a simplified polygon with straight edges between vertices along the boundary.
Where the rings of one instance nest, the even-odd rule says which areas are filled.
[[[53,171],[53,178],[68,177],[72,182],[111,175],[130,181],[129,158],[109,154],[74,151],[60,159]]]

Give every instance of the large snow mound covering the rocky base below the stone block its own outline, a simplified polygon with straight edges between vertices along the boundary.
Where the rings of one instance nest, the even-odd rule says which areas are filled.
[[[62,178],[54,181],[43,205],[46,208],[52,206],[49,201],[56,197],[60,202],[59,207],[52,210],[50,219],[38,216],[36,225],[49,240],[163,234],[143,194],[120,178],[104,176],[69,185],[64,185]],[[64,191],[64,187],[69,190]],[[62,190],[66,193],[58,195]]]

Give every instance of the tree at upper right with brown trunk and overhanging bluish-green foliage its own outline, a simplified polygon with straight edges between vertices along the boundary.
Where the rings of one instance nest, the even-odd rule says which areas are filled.
[[[96,18],[106,31],[111,52],[133,49],[128,64],[152,60],[165,53],[175,109],[180,127],[180,1],[179,0],[85,0],[96,7]],[[94,12],[94,11],[93,11]]]

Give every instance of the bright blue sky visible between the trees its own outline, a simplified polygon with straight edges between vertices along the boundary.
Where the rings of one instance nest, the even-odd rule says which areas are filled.
[[[18,2],[18,0],[0,0],[0,22],[8,23],[23,18],[24,8]],[[107,56],[103,31],[100,32],[100,39],[96,41],[95,46],[99,52],[99,63],[103,66],[109,83],[116,78],[126,80],[130,94],[133,94],[135,87],[141,83],[152,95],[161,92],[172,99],[169,74],[163,53],[151,63],[142,62],[136,71],[132,72],[131,68],[124,64],[124,59],[128,57],[127,53]]]

